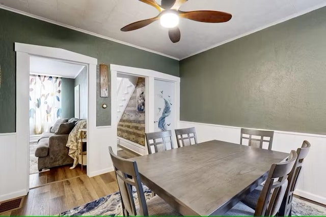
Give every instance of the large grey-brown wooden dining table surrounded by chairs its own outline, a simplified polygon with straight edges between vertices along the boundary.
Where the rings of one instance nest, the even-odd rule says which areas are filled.
[[[288,153],[218,140],[133,158],[142,182],[182,215],[223,215]]]

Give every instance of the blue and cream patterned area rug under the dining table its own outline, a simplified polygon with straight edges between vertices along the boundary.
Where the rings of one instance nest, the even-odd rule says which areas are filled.
[[[151,190],[143,185],[146,200],[152,197]],[[137,199],[137,193],[133,189],[133,197]],[[134,200],[135,205],[138,205],[138,200]],[[71,215],[110,215],[117,216],[123,215],[120,193],[116,192],[112,195],[102,197],[98,200],[92,201],[82,206],[70,209],[60,214],[60,216]],[[312,215],[326,215],[326,208],[318,206],[307,201],[293,198],[292,202],[292,215],[293,216],[312,216]]]

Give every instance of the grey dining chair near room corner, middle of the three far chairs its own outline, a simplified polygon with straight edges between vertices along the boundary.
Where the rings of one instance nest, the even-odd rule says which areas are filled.
[[[177,137],[177,145],[179,148],[182,146],[189,146],[198,143],[195,128],[176,129],[174,131]]]

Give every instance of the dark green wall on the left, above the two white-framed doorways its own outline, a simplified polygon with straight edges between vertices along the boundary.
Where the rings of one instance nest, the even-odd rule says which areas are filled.
[[[179,76],[179,61],[113,41],[97,38],[62,26],[0,9],[0,133],[15,132],[16,83],[14,43],[63,48],[98,59],[98,63],[152,69]],[[110,98],[97,101],[111,103]],[[97,104],[99,126],[111,125],[110,108]]]

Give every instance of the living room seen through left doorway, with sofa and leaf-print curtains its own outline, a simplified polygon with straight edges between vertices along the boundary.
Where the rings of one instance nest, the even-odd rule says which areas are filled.
[[[56,181],[60,176],[56,173],[62,174],[60,180],[86,174],[73,165],[74,151],[78,151],[73,148],[84,145],[87,153],[86,143],[78,144],[79,134],[70,133],[87,127],[87,81],[85,64],[30,57],[30,188]],[[80,171],[71,172],[69,167]]]

